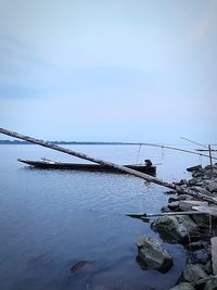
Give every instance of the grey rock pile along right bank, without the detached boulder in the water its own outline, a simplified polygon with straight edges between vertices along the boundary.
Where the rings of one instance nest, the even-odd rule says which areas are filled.
[[[212,197],[217,200],[217,164],[188,168],[192,174],[190,180],[182,179],[176,184],[177,193],[168,200],[169,212],[192,212],[194,206],[207,207]],[[199,197],[182,194],[181,189],[194,190]],[[217,206],[216,206],[217,207]],[[166,211],[164,211],[166,212]],[[217,290],[217,217],[209,214],[191,214],[161,216],[152,223],[152,228],[159,232],[167,242],[182,243],[187,251],[187,265],[173,290]],[[210,240],[213,241],[210,243]]]

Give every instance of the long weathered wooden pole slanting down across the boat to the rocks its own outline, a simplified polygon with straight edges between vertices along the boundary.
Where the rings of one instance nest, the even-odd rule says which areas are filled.
[[[214,199],[214,198],[207,197],[205,194],[202,194],[200,192],[195,192],[195,191],[190,190],[190,189],[183,189],[183,188],[181,188],[179,186],[176,186],[174,184],[165,182],[165,181],[163,181],[163,180],[161,180],[161,179],[158,179],[156,177],[152,177],[152,176],[150,176],[148,174],[140,173],[140,172],[137,172],[135,169],[127,168],[125,166],[122,166],[122,165],[118,165],[118,164],[115,164],[115,163],[112,163],[112,162],[108,162],[108,161],[104,161],[104,160],[97,159],[97,157],[91,157],[91,156],[89,156],[87,154],[84,154],[81,152],[73,151],[71,149],[66,149],[66,148],[60,147],[58,144],[50,143],[48,141],[35,139],[33,137],[25,136],[25,135],[15,133],[15,131],[10,131],[10,130],[3,129],[3,128],[0,128],[0,133],[4,134],[4,135],[8,135],[8,136],[11,136],[11,137],[15,137],[15,138],[25,140],[25,141],[28,141],[28,142],[31,142],[31,143],[35,143],[35,144],[47,147],[47,148],[50,148],[50,149],[53,149],[53,150],[56,150],[56,151],[60,151],[60,152],[76,156],[76,157],[80,157],[80,159],[88,160],[88,161],[91,161],[91,162],[94,162],[94,163],[98,163],[98,164],[101,164],[101,165],[104,165],[104,166],[108,166],[108,167],[112,167],[112,168],[117,169],[119,172],[128,173],[130,175],[133,175],[133,176],[137,176],[139,178],[142,178],[142,179],[144,179],[144,180],[146,180],[149,182],[153,182],[153,184],[156,184],[156,185],[173,189],[173,190],[175,190],[177,192],[186,193],[186,194],[192,196],[194,198],[205,200],[205,201],[210,202],[213,204],[217,204],[217,200]]]

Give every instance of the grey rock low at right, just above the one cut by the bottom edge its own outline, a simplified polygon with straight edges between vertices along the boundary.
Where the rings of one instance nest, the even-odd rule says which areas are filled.
[[[195,282],[207,277],[207,274],[200,264],[187,264],[182,275],[183,279],[189,282]]]

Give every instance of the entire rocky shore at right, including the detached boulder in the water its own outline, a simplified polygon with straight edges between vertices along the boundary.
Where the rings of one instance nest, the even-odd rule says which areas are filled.
[[[187,171],[192,178],[176,184],[177,191],[165,192],[168,204],[151,227],[164,241],[181,243],[187,250],[186,267],[173,290],[217,290],[217,164]],[[182,194],[186,189],[199,196]],[[212,198],[214,203],[202,197]],[[137,247],[137,261],[142,268],[167,273],[173,267],[173,256],[157,240],[141,236]]]

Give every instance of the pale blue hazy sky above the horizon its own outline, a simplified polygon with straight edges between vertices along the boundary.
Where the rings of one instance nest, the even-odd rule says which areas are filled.
[[[0,127],[216,143],[216,0],[0,0]]]

